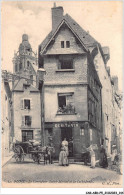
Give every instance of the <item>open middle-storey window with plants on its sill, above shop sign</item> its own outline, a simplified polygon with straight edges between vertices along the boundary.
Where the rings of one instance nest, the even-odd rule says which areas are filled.
[[[73,101],[73,93],[58,94],[58,114],[74,114],[75,107]]]

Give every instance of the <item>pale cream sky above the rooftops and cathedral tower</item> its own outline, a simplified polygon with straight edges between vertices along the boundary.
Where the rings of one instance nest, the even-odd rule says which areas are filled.
[[[4,1],[1,10],[2,69],[13,71],[12,58],[22,42],[22,34],[29,35],[34,52],[51,31],[53,1]],[[122,90],[122,2],[121,1],[56,1],[63,6],[84,30],[102,45],[110,48],[111,75],[119,77]]]

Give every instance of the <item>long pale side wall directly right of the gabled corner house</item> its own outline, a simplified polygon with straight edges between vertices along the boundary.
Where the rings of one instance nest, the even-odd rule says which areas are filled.
[[[107,72],[107,65],[104,64],[103,57],[98,51],[94,59],[95,67],[102,84],[102,121],[103,121],[103,139],[104,146],[108,154],[111,153],[111,133],[113,125],[113,100],[112,100],[112,85],[111,77]],[[105,137],[107,139],[105,139]]]

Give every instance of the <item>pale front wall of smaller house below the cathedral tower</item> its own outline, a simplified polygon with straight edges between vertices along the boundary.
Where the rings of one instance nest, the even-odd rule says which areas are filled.
[[[22,99],[31,100],[31,109],[25,110],[21,107]],[[13,92],[14,101],[14,132],[15,139],[22,141],[21,130],[33,130],[33,138],[35,140],[41,140],[41,104],[40,104],[40,94],[38,92],[30,92],[27,89],[24,92]],[[22,126],[22,116],[30,115],[32,117],[31,127]]]

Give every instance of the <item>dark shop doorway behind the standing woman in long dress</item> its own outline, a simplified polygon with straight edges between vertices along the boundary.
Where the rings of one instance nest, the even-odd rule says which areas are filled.
[[[73,157],[73,133],[71,127],[61,128],[61,141],[64,138],[68,141],[69,157]]]

